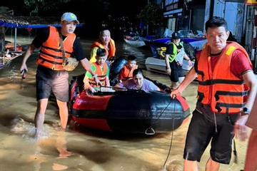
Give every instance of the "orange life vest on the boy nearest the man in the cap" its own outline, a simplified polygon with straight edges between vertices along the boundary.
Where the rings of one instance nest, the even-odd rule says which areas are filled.
[[[108,71],[108,66],[106,63],[104,63],[104,70],[102,70],[101,66],[99,65],[99,63],[94,62],[91,63],[91,65],[94,65],[96,67],[96,71],[94,71],[97,74],[97,78],[99,79],[99,81],[101,82],[102,86],[106,86],[106,73]],[[100,87],[100,86],[96,86],[96,81],[94,80],[93,77],[89,78],[89,84],[90,86],[94,87]]]

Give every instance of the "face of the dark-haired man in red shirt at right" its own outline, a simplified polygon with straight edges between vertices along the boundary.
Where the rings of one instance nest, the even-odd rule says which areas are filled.
[[[205,36],[207,38],[208,45],[211,47],[211,53],[216,54],[223,51],[223,48],[226,46],[228,35],[229,31],[226,31],[223,26],[208,28]]]

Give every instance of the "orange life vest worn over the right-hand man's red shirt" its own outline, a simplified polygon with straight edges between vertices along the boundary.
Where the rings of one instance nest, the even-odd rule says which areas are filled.
[[[198,60],[198,101],[210,105],[215,113],[238,113],[248,90],[244,81],[231,72],[231,56],[238,49],[247,56],[251,65],[248,53],[238,43],[228,43],[212,71],[209,48],[208,45],[203,47]]]

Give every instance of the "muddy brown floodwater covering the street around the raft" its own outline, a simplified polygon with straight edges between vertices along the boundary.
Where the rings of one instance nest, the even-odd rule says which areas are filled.
[[[18,43],[30,43],[32,38],[20,38]],[[81,40],[89,56],[89,46],[94,40]],[[133,48],[116,41],[116,56],[135,55],[139,66],[151,56],[150,48]],[[2,171],[10,170],[77,170],[77,171],[180,171],[183,170],[183,146],[187,123],[171,133],[157,135],[114,135],[81,128],[71,121],[66,132],[59,130],[59,111],[54,99],[49,100],[42,138],[34,138],[36,111],[36,57],[29,58],[29,72],[21,79],[21,58],[11,61],[0,71],[0,165]],[[69,77],[84,73],[81,64]],[[167,76],[144,71],[145,76],[170,85]],[[196,104],[196,83],[191,83],[182,95],[191,112]],[[190,117],[191,118],[191,117]],[[238,163],[232,155],[230,165],[220,170],[241,170],[246,155],[247,142],[236,140]],[[169,151],[169,149],[171,150]],[[204,170],[209,157],[209,147],[204,152],[199,170]],[[165,167],[164,167],[165,166]]]

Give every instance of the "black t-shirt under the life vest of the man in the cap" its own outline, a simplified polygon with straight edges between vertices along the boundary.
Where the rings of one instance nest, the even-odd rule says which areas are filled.
[[[32,44],[34,44],[34,46],[36,48],[40,48],[42,46],[42,44],[49,38],[49,31],[50,31],[49,27],[39,29],[39,33],[36,35],[36,37],[32,41]],[[66,38],[66,36],[63,36],[63,39],[65,39],[65,38]],[[81,42],[79,41],[79,38],[77,38],[77,37],[74,41],[73,49],[74,49],[74,52],[71,56],[75,56],[78,61],[81,61],[84,58],[86,58],[86,56],[84,55],[82,46],[81,46]]]

